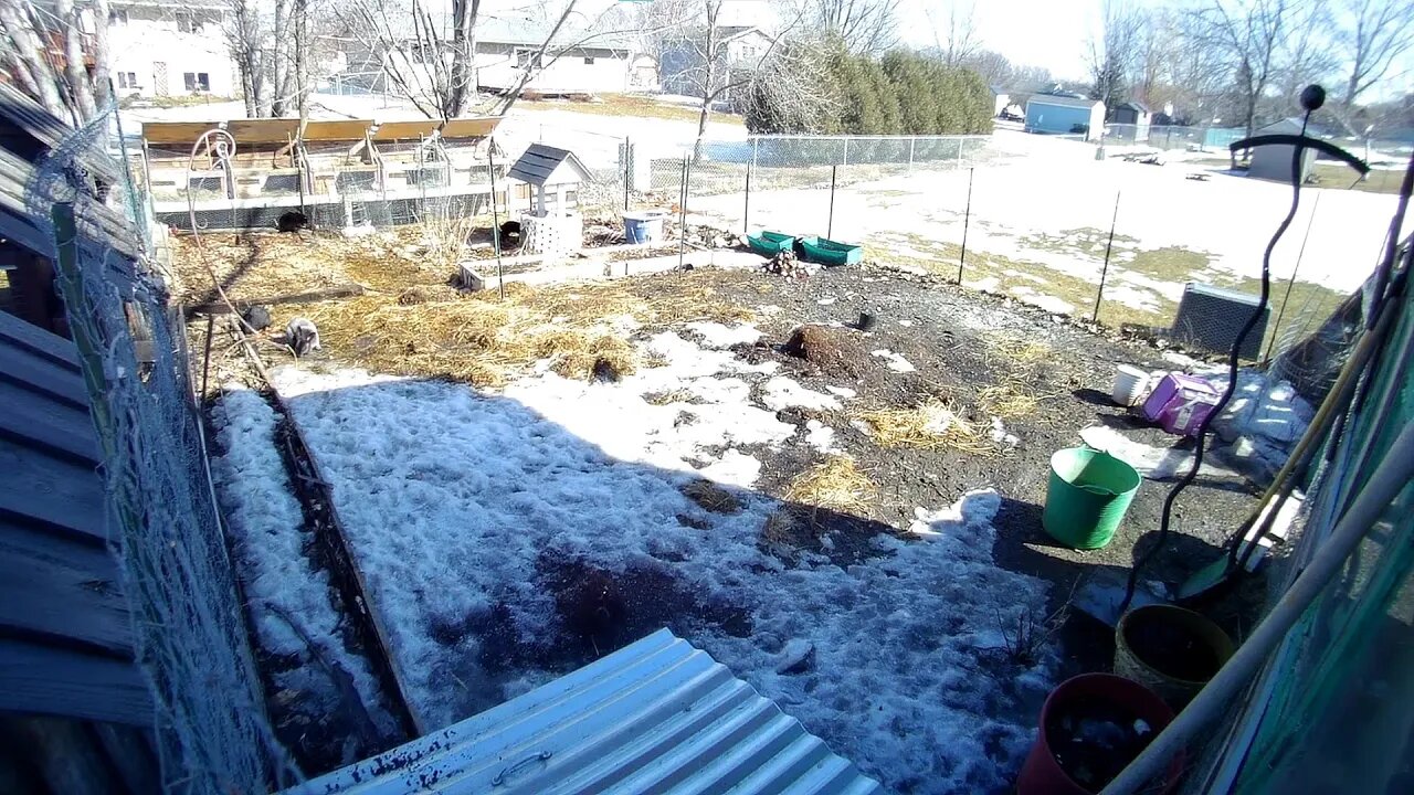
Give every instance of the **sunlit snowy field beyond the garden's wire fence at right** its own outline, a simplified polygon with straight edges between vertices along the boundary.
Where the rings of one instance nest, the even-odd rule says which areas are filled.
[[[1189,280],[1260,276],[1263,250],[1287,212],[1290,188],[1222,173],[1212,173],[1208,181],[1186,178],[1210,164],[1154,167],[1096,161],[1093,156],[1092,144],[998,130],[971,173],[919,168],[839,188],[831,235],[899,255],[936,257],[937,243],[962,242],[970,190],[969,250],[1038,266],[1010,274],[1032,282],[1010,291],[1049,311],[1073,311],[1076,307],[1048,296],[1046,272],[1099,283],[1118,197],[1107,300],[1152,310],[1161,300],[1178,300]],[[840,170],[841,182],[850,168]],[[830,218],[827,185],[829,175],[823,187],[752,191],[751,226],[823,235]],[[1298,279],[1342,293],[1355,290],[1374,267],[1397,197],[1333,187],[1307,188],[1302,195],[1302,208],[1273,257],[1274,277],[1285,279],[1297,269],[1309,225]],[[742,224],[740,195],[694,197],[690,209],[723,228],[740,229]],[[1414,228],[1414,221],[1408,226]],[[1169,246],[1206,255],[1208,263],[1200,265],[1199,256],[1199,266],[1182,273],[1131,265],[1145,252]]]

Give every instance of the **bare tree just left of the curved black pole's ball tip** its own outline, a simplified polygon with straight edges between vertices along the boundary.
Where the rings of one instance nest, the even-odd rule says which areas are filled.
[[[1247,134],[1277,69],[1291,0],[1212,0],[1192,11],[1193,42],[1220,54]]]

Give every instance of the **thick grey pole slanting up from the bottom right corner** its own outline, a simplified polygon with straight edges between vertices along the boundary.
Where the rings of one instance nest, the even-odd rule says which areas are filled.
[[[1169,723],[1114,781],[1100,791],[1100,795],[1128,795],[1143,791],[1150,781],[1164,775],[1164,768],[1175,754],[1232,706],[1237,692],[1257,673],[1267,655],[1340,571],[1345,560],[1380,519],[1389,504],[1408,485],[1410,478],[1414,478],[1414,423],[1404,424],[1404,430],[1386,451],[1350,509],[1336,522],[1329,540],[1316,550],[1305,571],[1253,629],[1247,642],[1174,719],[1174,723]]]

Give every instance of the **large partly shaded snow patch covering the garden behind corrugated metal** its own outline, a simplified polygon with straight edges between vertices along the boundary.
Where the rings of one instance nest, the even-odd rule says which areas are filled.
[[[1058,662],[1008,634],[1019,614],[1045,613],[1046,586],[994,564],[998,495],[919,506],[906,532],[864,542],[860,562],[771,555],[761,535],[782,504],[752,491],[756,453],[822,446],[831,429],[764,406],[847,405],[853,392],[805,389],[717,348],[751,335],[660,332],[641,345],[662,364],[617,383],[542,371],[488,392],[294,366],[273,378],[334,484],[428,724],[594,656],[574,628],[611,613],[566,604],[557,583],[577,566],[605,573],[594,593],[652,583],[625,594],[638,629],[670,625],[889,789],[1005,789]],[[735,511],[684,497],[701,478],[728,487]]]

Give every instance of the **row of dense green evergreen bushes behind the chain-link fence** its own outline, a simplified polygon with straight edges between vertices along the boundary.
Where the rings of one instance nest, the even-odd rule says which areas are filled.
[[[782,112],[754,92],[747,127],[754,133],[929,136],[991,132],[993,99],[981,76],[906,50],[882,58],[853,55],[824,44],[827,85],[820,112]]]

